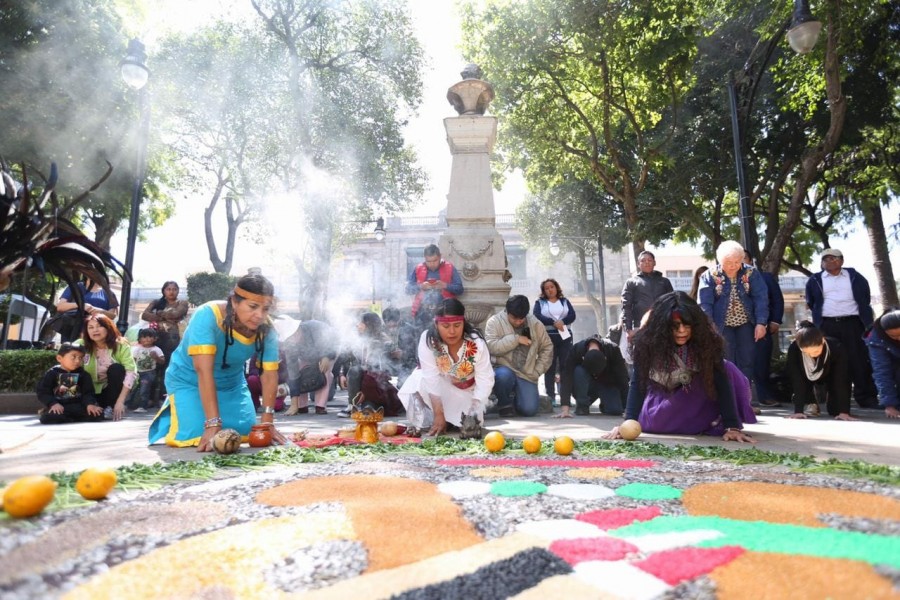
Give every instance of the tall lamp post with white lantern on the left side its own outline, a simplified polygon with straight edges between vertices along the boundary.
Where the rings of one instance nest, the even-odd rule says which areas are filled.
[[[140,103],[140,123],[138,127],[137,152],[134,169],[134,183],[131,189],[131,213],[128,219],[128,240],[125,249],[125,270],[132,275],[134,268],[134,245],[137,241],[138,214],[141,208],[141,192],[144,187],[144,175],[147,166],[147,135],[150,130],[150,98],[147,93],[147,81],[150,79],[150,70],[144,61],[147,54],[144,44],[140,40],[133,39],[128,42],[128,53],[119,67],[122,71],[122,79],[134,90],[138,91]],[[132,276],[133,277],[133,276]],[[131,280],[126,277],[122,280],[122,298],[119,303],[119,322],[116,324],[123,334],[128,329],[128,310],[131,304]]]

